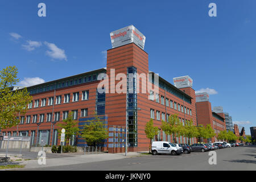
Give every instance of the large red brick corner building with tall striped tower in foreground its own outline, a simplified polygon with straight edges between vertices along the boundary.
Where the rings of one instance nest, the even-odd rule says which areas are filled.
[[[138,36],[138,31],[135,35]],[[113,37],[117,35],[114,34]],[[112,75],[113,71],[115,75]],[[102,73],[105,73],[105,76],[102,76]],[[117,78],[118,73],[127,78]],[[139,78],[134,75],[138,75]],[[143,82],[143,76],[152,84],[152,90],[146,89],[148,82]],[[41,133],[47,133],[47,144],[60,144],[56,124],[53,131],[53,122],[61,122],[73,111],[73,119],[78,121],[81,129],[97,111],[101,121],[108,124],[109,139],[105,143],[105,150],[110,152],[125,151],[126,119],[129,151],[148,150],[150,140],[146,138],[144,129],[150,118],[154,120],[155,126],[159,127],[159,134],[155,140],[188,143],[188,138],[167,136],[160,130],[160,126],[162,120],[167,121],[171,114],[178,114],[183,123],[187,119],[192,119],[196,125],[196,96],[195,90],[192,89],[192,79],[189,79],[191,85],[177,88],[162,77],[159,77],[158,82],[157,77],[154,72],[148,70],[148,53],[138,44],[128,43],[109,49],[106,68],[28,87],[27,90],[33,98],[26,115],[19,117],[18,126],[2,132],[39,138]],[[127,85],[133,84],[131,92],[112,92],[112,88],[117,88],[122,79],[125,79],[123,81]],[[108,84],[104,85],[105,93],[98,92],[98,84],[105,81],[108,81]],[[120,88],[128,91],[127,85],[123,84]],[[155,92],[156,88],[159,92]],[[36,123],[41,124],[38,127]],[[195,142],[195,138],[190,140],[190,143]],[[79,136],[73,136],[71,144],[84,146],[86,143]]]

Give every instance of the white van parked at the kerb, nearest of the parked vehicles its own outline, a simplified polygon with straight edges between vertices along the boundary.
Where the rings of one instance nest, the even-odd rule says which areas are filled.
[[[173,143],[158,141],[152,142],[151,152],[153,155],[157,154],[172,154],[172,155],[180,155],[183,152],[179,147],[176,147]]]

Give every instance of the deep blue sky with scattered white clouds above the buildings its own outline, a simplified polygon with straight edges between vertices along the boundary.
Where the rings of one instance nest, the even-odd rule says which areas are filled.
[[[46,17],[38,4],[46,3]],[[208,15],[216,3],[217,17]],[[149,68],[172,83],[189,75],[213,106],[256,126],[256,1],[0,2],[0,69],[18,67],[22,84],[106,67],[111,31],[133,24],[146,36]]]

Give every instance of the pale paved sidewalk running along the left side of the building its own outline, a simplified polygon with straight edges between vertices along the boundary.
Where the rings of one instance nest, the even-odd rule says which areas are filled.
[[[116,154],[90,154],[90,155],[76,155],[66,158],[52,158],[46,159],[46,164],[39,164],[38,160],[26,160],[20,162],[20,164],[25,164],[26,166],[23,169],[33,169],[33,168],[42,168],[42,167],[56,167],[56,166],[66,166],[72,164],[82,164],[82,163],[93,163],[101,162],[104,160],[117,160],[131,158],[134,156],[141,155],[144,152],[128,152],[127,156],[125,153],[116,153]],[[47,158],[47,154],[46,154]]]

